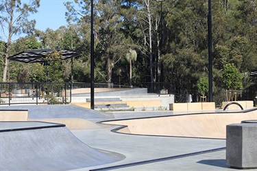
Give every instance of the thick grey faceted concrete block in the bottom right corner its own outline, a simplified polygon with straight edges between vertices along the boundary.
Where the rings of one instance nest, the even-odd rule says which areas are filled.
[[[231,168],[257,168],[257,124],[229,124],[226,127],[226,161]]]

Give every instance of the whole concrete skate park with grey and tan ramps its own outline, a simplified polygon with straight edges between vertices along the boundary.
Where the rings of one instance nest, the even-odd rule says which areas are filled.
[[[161,96],[148,95],[158,104],[135,111],[88,109],[86,92],[73,96],[77,104],[1,106],[1,170],[236,170],[226,165],[225,125],[256,120],[256,108],[157,110]]]

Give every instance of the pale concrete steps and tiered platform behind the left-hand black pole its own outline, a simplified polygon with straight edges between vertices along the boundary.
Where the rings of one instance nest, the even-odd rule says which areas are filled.
[[[145,111],[156,109],[169,109],[169,104],[174,103],[171,94],[149,94],[145,88],[130,90],[114,90],[95,93],[95,110],[99,111]],[[71,104],[90,109],[90,94],[72,94]]]

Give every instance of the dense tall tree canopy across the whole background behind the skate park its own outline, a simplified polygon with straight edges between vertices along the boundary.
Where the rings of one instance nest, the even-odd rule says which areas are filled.
[[[1,1],[2,13],[7,3]],[[162,9],[160,2],[150,0],[94,3],[96,82],[143,86],[157,92],[156,85],[163,81],[159,88],[170,93],[198,93],[197,83],[208,75],[207,1],[163,1]],[[10,9],[20,9],[21,5],[17,4]],[[25,17],[36,12],[38,5],[39,0],[34,0],[31,8],[24,8]],[[19,30],[27,36],[16,42],[1,40],[1,75],[5,73],[2,69],[6,66],[5,54],[62,47],[83,55],[62,62],[60,65],[65,69],[58,76],[62,79],[56,77],[53,81],[90,82],[90,1],[67,1],[64,5],[69,21],[66,27],[42,31],[23,27],[22,21],[11,27],[11,36],[18,33],[18,27],[23,28]],[[220,101],[223,90],[230,88],[252,91],[247,98],[256,95],[256,78],[249,77],[250,70],[257,68],[256,9],[256,0],[212,1],[214,101]],[[1,17],[1,21],[3,19]],[[8,27],[8,23],[1,26]],[[127,62],[127,49],[137,53],[133,66]],[[44,67],[28,66],[11,62],[6,81],[40,81]]]

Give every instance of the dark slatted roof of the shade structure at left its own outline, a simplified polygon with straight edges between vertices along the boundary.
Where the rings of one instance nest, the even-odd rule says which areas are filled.
[[[77,57],[81,55],[81,53],[69,49],[56,49],[56,51],[62,51],[62,56],[60,57],[62,60],[67,60],[71,57]],[[8,60],[14,60],[25,63],[45,62],[45,57],[47,56],[47,54],[52,52],[53,50],[51,49],[22,51],[20,53],[17,53],[16,55],[8,57]]]

